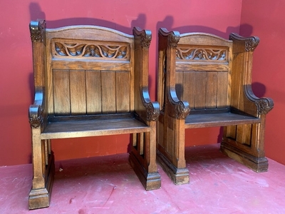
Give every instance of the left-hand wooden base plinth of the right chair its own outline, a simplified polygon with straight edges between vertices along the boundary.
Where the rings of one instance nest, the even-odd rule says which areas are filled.
[[[189,183],[190,177],[187,168],[176,168],[160,151],[157,151],[157,162],[176,185]]]

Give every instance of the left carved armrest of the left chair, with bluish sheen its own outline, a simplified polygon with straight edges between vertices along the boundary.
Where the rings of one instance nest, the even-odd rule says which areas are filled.
[[[32,128],[41,127],[43,123],[43,90],[37,88],[33,105],[28,108],[29,123]]]

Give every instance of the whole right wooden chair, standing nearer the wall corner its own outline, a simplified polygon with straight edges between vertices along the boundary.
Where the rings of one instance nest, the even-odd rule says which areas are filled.
[[[187,128],[222,126],[223,153],[254,171],[267,170],[264,126],[274,103],[252,92],[252,55],[258,44],[255,36],[230,34],[226,40],[159,30],[157,159],[174,183],[189,183]]]

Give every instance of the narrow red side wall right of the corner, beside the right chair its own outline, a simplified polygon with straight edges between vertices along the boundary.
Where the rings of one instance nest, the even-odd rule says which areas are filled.
[[[243,1],[240,33],[259,36],[254,52],[253,90],[274,100],[266,117],[265,154],[285,164],[285,1]],[[270,166],[269,166],[270,168]]]

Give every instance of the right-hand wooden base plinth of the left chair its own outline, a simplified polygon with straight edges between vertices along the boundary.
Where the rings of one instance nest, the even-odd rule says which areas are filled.
[[[130,152],[129,162],[138,178],[140,179],[140,182],[145,187],[145,190],[157,190],[161,187],[160,174],[157,172],[147,173],[147,170],[145,170],[133,152]]]

